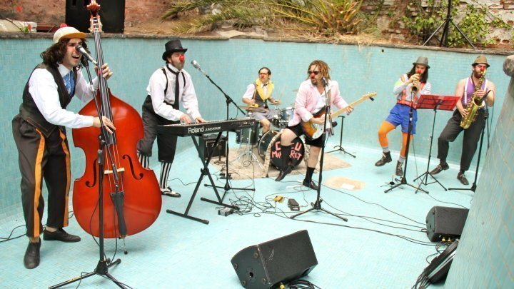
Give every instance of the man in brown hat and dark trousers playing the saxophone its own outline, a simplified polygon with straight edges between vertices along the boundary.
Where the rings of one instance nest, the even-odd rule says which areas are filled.
[[[448,120],[445,128],[440,133],[438,138],[438,158],[440,163],[430,171],[431,175],[435,175],[449,168],[448,163],[446,163],[449,142],[455,141],[455,138],[457,138],[460,132],[464,131],[463,148],[460,156],[460,171],[457,175],[458,180],[464,186],[469,185],[468,179],[465,177],[464,173],[468,171],[470,167],[471,160],[478,146],[480,133],[485,124],[485,104],[493,106],[496,91],[496,86],[493,81],[485,79],[485,72],[489,67],[485,56],[478,56],[473,64],[471,64],[471,67],[471,76],[461,79],[455,88],[455,96],[460,96],[457,102],[457,109],[453,112],[453,116]],[[485,95],[487,95],[485,100],[480,103],[480,100]],[[468,114],[472,111],[471,108],[475,102],[478,102],[478,107],[475,106],[474,113],[476,118],[473,121],[473,118],[469,118]],[[461,122],[466,121],[468,127],[461,126]],[[470,121],[472,122],[469,123]]]

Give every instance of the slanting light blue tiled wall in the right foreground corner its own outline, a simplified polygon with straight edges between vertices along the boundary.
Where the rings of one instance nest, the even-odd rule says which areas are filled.
[[[514,78],[498,119],[447,288],[514,287]]]

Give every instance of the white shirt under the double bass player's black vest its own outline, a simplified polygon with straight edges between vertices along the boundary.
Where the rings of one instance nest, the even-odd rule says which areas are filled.
[[[69,73],[66,66],[59,64],[59,73],[65,76]],[[98,78],[94,78],[93,87],[84,79],[81,71],[77,71],[75,83],[75,96],[81,101],[89,101],[98,90]],[[93,116],[82,116],[79,113],[66,111],[61,108],[57,83],[54,76],[46,69],[36,69],[29,79],[29,93],[31,94],[37,108],[46,121],[57,126],[69,128],[84,128],[93,126]]]

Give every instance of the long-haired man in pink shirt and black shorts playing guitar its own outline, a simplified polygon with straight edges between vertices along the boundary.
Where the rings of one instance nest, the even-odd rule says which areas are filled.
[[[281,171],[275,181],[282,181],[288,173],[291,173],[292,167],[289,164],[291,153],[291,142],[298,136],[303,134],[300,122],[311,121],[312,123],[323,125],[325,118],[313,117],[318,111],[325,109],[327,97],[331,105],[338,108],[348,106],[339,92],[339,84],[337,81],[331,81],[328,71],[330,68],[321,60],[315,60],[308,66],[307,79],[300,84],[298,93],[296,94],[295,110],[293,119],[289,121],[288,126],[281,135]],[[326,95],[326,94],[327,95]],[[350,114],[353,107],[348,106],[346,113]],[[311,155],[307,160],[306,177],[303,179],[303,186],[318,190],[316,183],[312,181],[314,168],[318,163],[318,156],[321,148],[324,146],[325,139],[323,135],[315,138],[306,138],[306,144],[311,146]]]

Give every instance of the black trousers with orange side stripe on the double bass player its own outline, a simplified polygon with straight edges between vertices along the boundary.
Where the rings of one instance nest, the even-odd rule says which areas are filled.
[[[55,128],[49,136],[24,121],[19,115],[12,121],[21,172],[21,203],[29,237],[43,231],[43,180],[48,189],[46,225],[62,228],[68,225],[68,194],[71,181],[70,154],[66,134]]]

